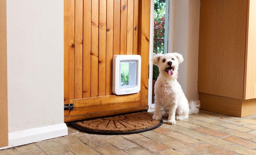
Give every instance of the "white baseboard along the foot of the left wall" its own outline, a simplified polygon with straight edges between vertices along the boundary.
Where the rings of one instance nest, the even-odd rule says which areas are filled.
[[[25,145],[37,141],[49,140],[56,137],[67,135],[67,125],[65,123],[55,124],[52,126],[37,127],[9,133],[9,145],[0,148],[11,148],[14,146]]]

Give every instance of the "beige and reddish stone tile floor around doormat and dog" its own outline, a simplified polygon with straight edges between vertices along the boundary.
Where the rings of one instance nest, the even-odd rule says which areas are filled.
[[[166,120],[164,120],[166,121]],[[69,135],[1,150],[0,155],[256,155],[256,115],[238,118],[201,110],[176,125],[140,134]]]

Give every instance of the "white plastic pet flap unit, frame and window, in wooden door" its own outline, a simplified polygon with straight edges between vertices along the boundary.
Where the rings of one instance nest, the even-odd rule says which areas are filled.
[[[116,95],[140,92],[140,55],[114,55],[112,91]]]

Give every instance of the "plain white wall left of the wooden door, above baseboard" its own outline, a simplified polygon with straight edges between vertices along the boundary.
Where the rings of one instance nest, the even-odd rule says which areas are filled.
[[[64,122],[63,0],[7,0],[9,133]]]

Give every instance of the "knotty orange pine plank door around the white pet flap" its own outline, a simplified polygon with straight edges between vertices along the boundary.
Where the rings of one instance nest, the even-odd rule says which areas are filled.
[[[148,108],[149,0],[64,0],[65,122]],[[112,94],[112,57],[140,54],[141,90]]]

